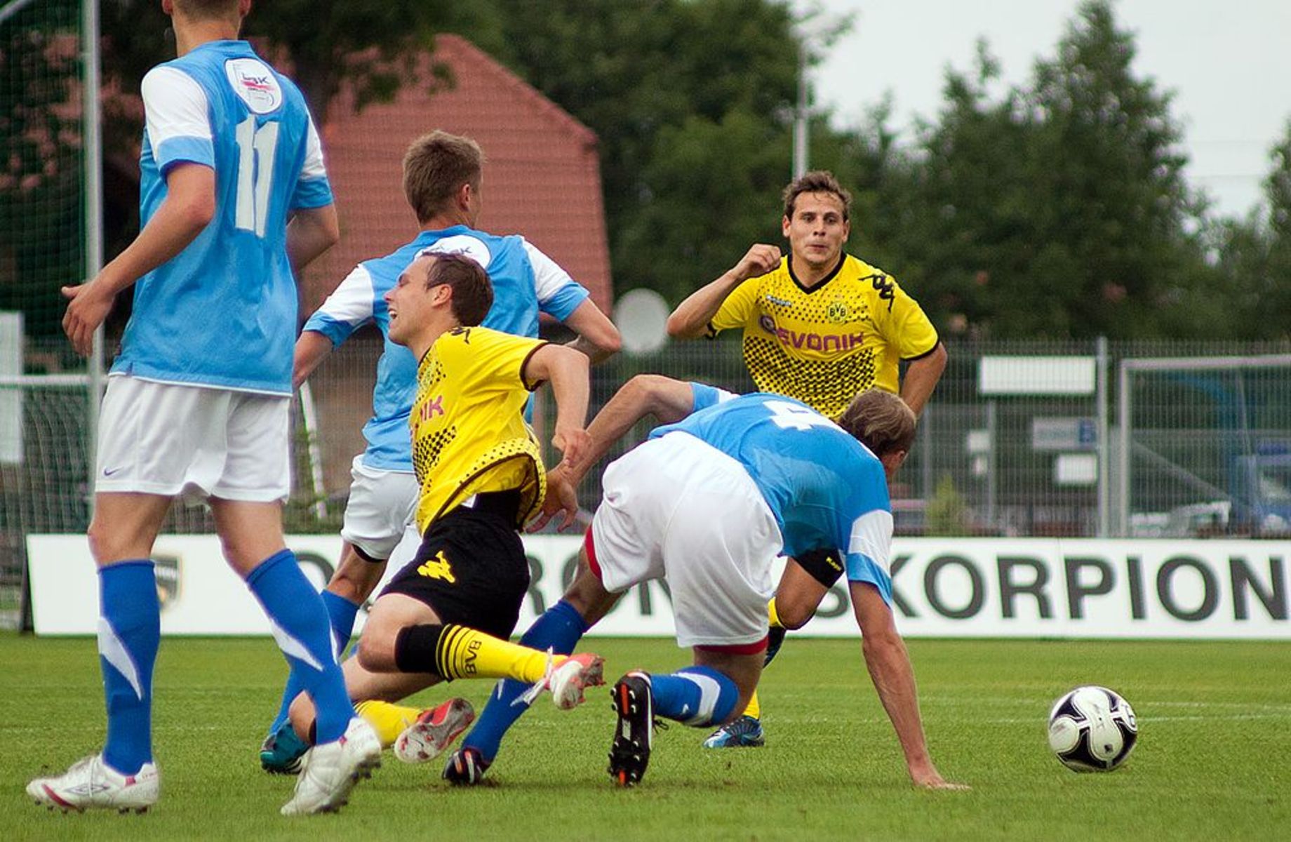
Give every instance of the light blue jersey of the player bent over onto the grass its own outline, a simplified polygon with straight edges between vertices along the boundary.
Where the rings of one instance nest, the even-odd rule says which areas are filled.
[[[738,461],[762,491],[785,555],[838,549],[847,577],[892,602],[892,506],[883,464],[811,407],[767,393],[731,396],[692,384],[695,412],[651,438],[687,433]]]

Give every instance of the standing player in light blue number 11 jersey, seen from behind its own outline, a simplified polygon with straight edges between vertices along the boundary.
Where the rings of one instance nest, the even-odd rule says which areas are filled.
[[[314,700],[318,745],[284,815],[340,808],[380,762],[332,651],[327,611],[283,541],[294,274],[338,239],[318,133],[296,85],[236,40],[250,0],[163,0],[178,58],[143,79],[138,238],[65,288],[63,329],[86,354],[116,293],[134,287],[103,398],[94,517],[101,754],[31,781],[63,810],[158,801],[152,666],[160,638],[148,559],[174,497],[209,502],[223,554],[269,616]]]

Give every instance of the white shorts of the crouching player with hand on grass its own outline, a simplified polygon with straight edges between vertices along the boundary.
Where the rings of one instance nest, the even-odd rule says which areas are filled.
[[[688,433],[669,433],[605,469],[591,520],[612,593],[667,581],[678,646],[737,647],[767,637],[780,527],[740,462]]]

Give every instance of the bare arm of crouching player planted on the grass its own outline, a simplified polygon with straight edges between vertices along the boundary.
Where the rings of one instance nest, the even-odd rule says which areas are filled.
[[[919,718],[919,693],[914,684],[914,669],[905,642],[896,630],[892,610],[873,585],[851,582],[852,608],[861,628],[861,651],[879,701],[887,710],[896,730],[910,780],[928,789],[968,789],[963,784],[948,783],[928,755],[928,743],[923,736]]]

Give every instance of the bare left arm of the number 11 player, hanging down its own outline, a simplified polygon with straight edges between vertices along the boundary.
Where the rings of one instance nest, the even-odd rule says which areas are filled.
[[[177,164],[167,173],[167,198],[139,235],[89,283],[63,287],[70,300],[63,332],[81,356],[94,344],[94,331],[112,310],[116,293],[188,247],[216,216],[216,170],[204,164]]]

